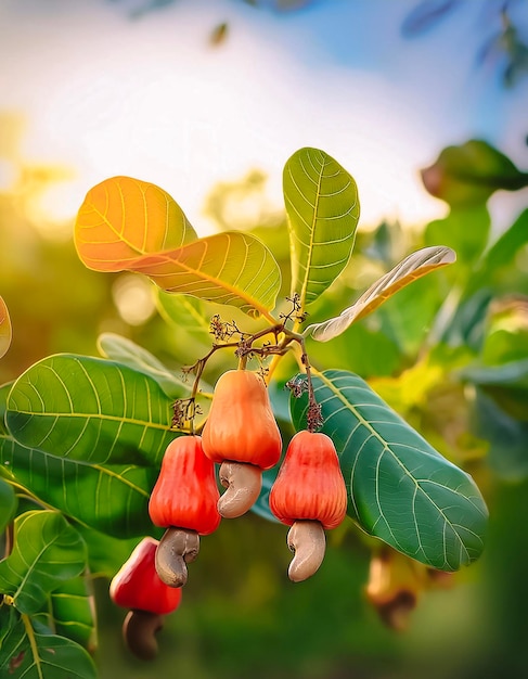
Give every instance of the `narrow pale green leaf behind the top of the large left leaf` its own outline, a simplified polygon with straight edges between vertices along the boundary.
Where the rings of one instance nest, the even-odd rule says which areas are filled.
[[[184,398],[191,392],[191,384],[179,380],[162,361],[131,340],[111,332],[103,333],[98,337],[98,348],[104,358],[155,380],[171,399]]]

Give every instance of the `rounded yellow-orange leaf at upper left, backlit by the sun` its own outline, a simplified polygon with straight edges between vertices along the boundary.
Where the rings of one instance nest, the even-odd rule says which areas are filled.
[[[176,249],[196,238],[166,191],[131,177],[112,177],[90,189],[75,225],[79,257],[95,271],[121,271],[141,255]]]

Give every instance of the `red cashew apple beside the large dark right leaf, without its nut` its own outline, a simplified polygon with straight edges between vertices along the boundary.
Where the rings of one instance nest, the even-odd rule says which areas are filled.
[[[336,528],[347,512],[347,489],[335,446],[326,434],[298,432],[289,441],[270,491],[270,509],[291,526],[297,520]]]

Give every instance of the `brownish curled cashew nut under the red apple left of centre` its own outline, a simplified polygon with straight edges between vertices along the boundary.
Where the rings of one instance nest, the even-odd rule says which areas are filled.
[[[159,579],[169,587],[183,587],[186,582],[186,564],[196,559],[199,535],[185,528],[167,528],[156,549],[156,571]]]

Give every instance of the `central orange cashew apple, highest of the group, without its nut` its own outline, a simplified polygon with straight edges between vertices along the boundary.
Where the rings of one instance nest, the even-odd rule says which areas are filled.
[[[228,370],[218,380],[202,432],[205,454],[224,460],[274,466],[281,457],[281,432],[263,380],[247,370]]]

